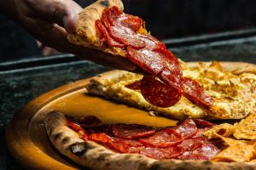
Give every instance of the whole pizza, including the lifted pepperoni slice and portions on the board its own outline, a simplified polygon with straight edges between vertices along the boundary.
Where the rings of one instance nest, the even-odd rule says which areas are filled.
[[[129,59],[144,74],[103,73],[86,84],[88,93],[180,122],[174,127],[106,124],[92,115],[51,111],[44,124],[55,148],[93,169],[256,168],[255,65],[236,70],[228,63],[185,63],[146,31],[142,19],[123,9],[119,0],[91,4],[67,38]],[[217,119],[224,123],[209,122]]]

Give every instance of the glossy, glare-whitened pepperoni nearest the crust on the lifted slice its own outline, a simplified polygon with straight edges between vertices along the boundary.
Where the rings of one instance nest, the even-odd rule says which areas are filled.
[[[129,45],[132,48],[140,49],[145,47],[145,42],[138,37],[137,33],[126,27],[110,26],[109,34],[114,40]]]

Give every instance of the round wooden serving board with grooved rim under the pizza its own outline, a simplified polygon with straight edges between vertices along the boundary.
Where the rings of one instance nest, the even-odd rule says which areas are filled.
[[[193,63],[192,63],[193,65]],[[230,65],[230,63],[224,63]],[[245,68],[247,63],[231,63],[236,68]],[[236,66],[237,65],[237,66]],[[250,71],[249,71],[250,72]],[[44,128],[44,116],[57,110],[71,116],[98,116],[104,123],[137,123],[154,127],[173,126],[177,121],[161,116],[149,116],[127,105],[121,105],[86,94],[85,84],[90,79],[73,82],[55,88],[33,99],[19,113],[6,129],[6,139],[10,153],[27,169],[78,169],[79,165],[62,156],[49,143]],[[84,167],[83,167],[84,169]]]

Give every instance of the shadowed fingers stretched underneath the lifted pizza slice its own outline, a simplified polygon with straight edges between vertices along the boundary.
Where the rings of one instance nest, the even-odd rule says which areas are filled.
[[[74,45],[67,40],[67,31],[61,26],[49,24],[49,22],[40,19],[27,19],[27,22],[32,27],[41,26],[44,31],[34,30],[33,35],[38,38],[44,45],[55,48],[63,53],[70,53],[78,55],[82,59],[89,59],[101,65],[110,66],[116,69],[134,71],[137,69],[137,65],[133,64],[128,59],[121,56],[114,56],[102,51],[84,48],[78,45]]]

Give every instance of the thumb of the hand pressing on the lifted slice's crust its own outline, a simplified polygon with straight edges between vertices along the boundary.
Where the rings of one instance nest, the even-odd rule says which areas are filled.
[[[78,14],[83,9],[73,0],[44,0],[41,4],[32,4],[32,8],[38,17],[63,27],[67,32],[76,30]]]

